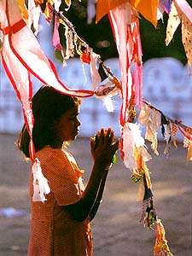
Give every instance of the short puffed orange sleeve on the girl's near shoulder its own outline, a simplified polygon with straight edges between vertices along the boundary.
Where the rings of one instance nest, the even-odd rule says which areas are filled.
[[[67,206],[79,201],[82,186],[67,154],[60,149],[51,148],[51,152],[44,156],[39,157],[42,172],[58,205]]]

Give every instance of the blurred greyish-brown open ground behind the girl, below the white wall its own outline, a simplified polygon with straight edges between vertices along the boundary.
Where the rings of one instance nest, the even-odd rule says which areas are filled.
[[[30,229],[28,177],[30,165],[15,147],[15,136],[0,135],[0,215],[13,207],[25,210],[23,216],[0,217],[0,256],[26,255]],[[79,167],[90,174],[88,138],[78,138],[70,146]],[[154,192],[154,207],[166,228],[166,238],[174,256],[191,255],[191,167],[185,164],[187,149],[172,147],[163,156],[165,143],[159,144],[160,156],[148,163]],[[139,223],[141,202],[136,201],[137,185],[131,172],[119,159],[109,173],[102,207],[92,222],[95,256],[153,255],[154,231]],[[8,212],[7,212],[8,213]],[[10,212],[11,213],[11,212]]]

